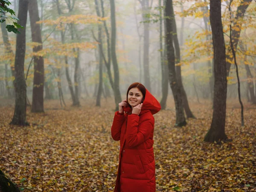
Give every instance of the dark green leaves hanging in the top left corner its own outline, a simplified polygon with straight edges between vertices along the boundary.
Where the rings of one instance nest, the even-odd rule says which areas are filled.
[[[11,15],[15,15],[15,12],[9,8],[9,5],[11,5],[11,3],[9,2],[9,0],[0,0],[0,14],[1,17],[5,18],[6,20],[11,19],[11,20],[19,20],[17,17],[14,16],[6,16],[6,13],[9,13]],[[5,21],[5,19],[1,19],[0,23],[3,23]],[[6,25],[6,29],[8,32],[14,32],[14,33],[20,33],[18,31],[19,28],[23,28],[23,26],[21,26],[20,24],[13,22],[13,25],[11,24],[7,24]]]

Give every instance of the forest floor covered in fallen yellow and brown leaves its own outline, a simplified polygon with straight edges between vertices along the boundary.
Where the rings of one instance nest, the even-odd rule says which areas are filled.
[[[28,127],[9,125],[14,106],[0,106],[0,169],[25,192],[113,191],[119,142],[111,138],[112,100],[64,109],[47,101],[44,114],[28,108]],[[183,128],[173,127],[172,101],[154,115],[157,191],[256,191],[256,106],[245,104],[241,127],[239,103],[230,102],[226,134],[233,141],[221,145],[203,142],[210,103],[191,108],[198,119]]]

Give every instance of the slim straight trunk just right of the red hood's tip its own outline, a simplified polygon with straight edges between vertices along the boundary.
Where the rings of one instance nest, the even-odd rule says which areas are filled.
[[[161,7],[161,1],[159,0],[159,7]],[[164,0],[165,6],[165,0]],[[162,9],[160,10],[160,57],[161,57],[161,72],[162,72],[162,99],[160,101],[160,105],[162,109],[166,109],[166,101],[168,97],[168,62],[167,62],[167,55],[166,55],[166,43],[163,47],[163,32],[162,32]],[[163,13],[165,16],[165,12]],[[166,37],[166,21],[164,20],[164,35]]]

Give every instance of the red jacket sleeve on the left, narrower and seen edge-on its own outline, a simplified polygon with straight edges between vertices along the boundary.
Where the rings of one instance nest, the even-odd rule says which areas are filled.
[[[124,119],[125,119],[125,113],[119,113],[118,111],[116,111],[113,119],[113,124],[111,127],[111,137],[115,141],[120,140],[121,127],[122,127],[122,123],[124,122]]]

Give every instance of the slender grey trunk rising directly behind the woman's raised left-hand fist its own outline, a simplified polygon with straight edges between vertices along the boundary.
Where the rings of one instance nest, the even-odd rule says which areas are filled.
[[[119,89],[119,69],[116,59],[116,11],[115,11],[115,0],[110,0],[111,8],[111,57],[114,69],[114,94],[116,111],[118,110],[118,104],[121,100],[121,93]]]

